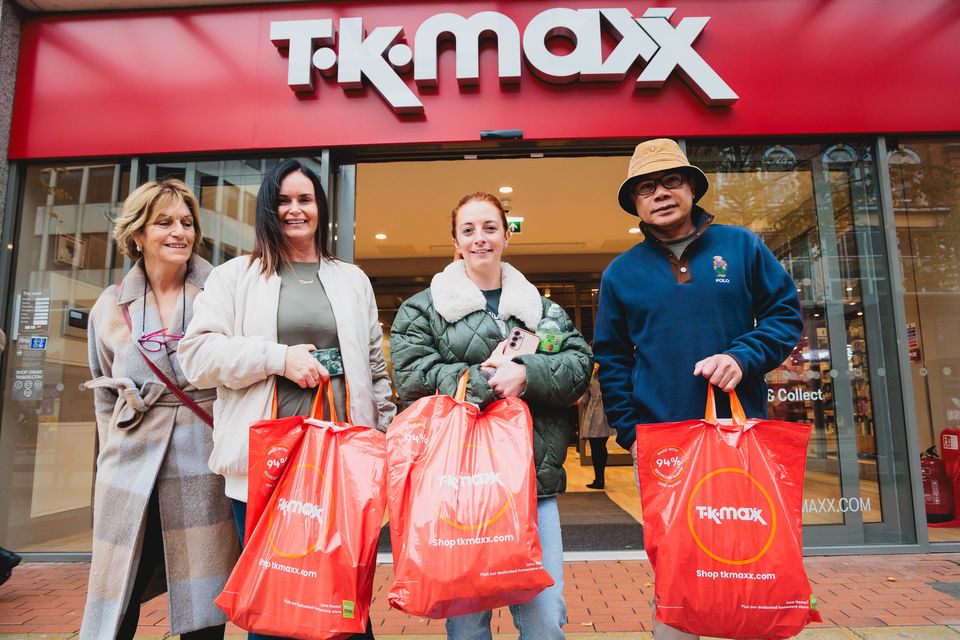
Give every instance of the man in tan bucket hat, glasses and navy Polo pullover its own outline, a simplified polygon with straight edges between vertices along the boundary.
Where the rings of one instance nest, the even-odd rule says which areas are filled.
[[[764,374],[803,331],[793,279],[763,240],[697,206],[707,176],[668,139],[637,145],[618,193],[642,242],[603,272],[593,348],[617,442],[636,457],[637,424],[702,418],[707,385],[736,389],[766,417]],[[725,394],[718,415],[729,417]],[[657,640],[696,638],[654,622]]]

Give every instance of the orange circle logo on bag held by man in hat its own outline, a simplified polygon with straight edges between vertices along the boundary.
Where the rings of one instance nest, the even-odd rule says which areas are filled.
[[[711,471],[694,486],[687,525],[700,550],[724,564],[756,562],[770,550],[777,512],[756,478],[735,467]]]

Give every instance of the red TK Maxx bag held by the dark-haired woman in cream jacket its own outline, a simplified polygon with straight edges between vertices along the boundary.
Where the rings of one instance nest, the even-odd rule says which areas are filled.
[[[256,633],[303,640],[362,633],[386,507],[384,435],[335,416],[301,419],[299,427],[290,420],[253,427],[302,435],[274,465],[282,473],[216,604]],[[251,476],[254,483],[270,485]]]

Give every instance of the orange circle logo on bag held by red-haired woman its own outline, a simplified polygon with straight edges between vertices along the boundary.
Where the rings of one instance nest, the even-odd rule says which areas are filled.
[[[466,451],[477,451],[468,446]],[[489,451],[489,450],[488,450]],[[489,527],[505,514],[513,504],[513,495],[494,468],[494,453],[473,456],[473,469],[446,473],[433,479],[433,497],[437,517],[441,522],[461,531]],[[448,455],[459,455],[451,450]],[[479,468],[478,468],[479,467]]]

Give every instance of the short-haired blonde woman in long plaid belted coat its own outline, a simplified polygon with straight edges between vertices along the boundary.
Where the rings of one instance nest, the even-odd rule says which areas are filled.
[[[223,478],[210,472],[215,394],[183,374],[178,344],[212,269],[200,207],[179,180],[152,181],[114,226],[135,260],[90,311],[88,351],[99,454],[93,556],[80,637],[129,640],[140,604],[166,591],[170,633],[223,638],[214,605],[239,554]]]

